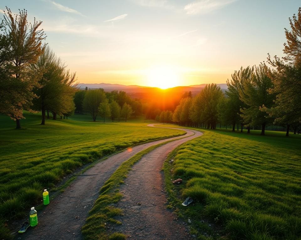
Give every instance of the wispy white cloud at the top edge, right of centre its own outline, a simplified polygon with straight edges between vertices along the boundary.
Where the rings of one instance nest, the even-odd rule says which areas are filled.
[[[184,10],[187,14],[203,14],[222,8],[237,0],[200,0],[187,4]]]

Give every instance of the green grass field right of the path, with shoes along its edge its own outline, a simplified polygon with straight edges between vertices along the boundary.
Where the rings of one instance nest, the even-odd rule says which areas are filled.
[[[198,130],[204,135],[181,145],[170,155],[174,162],[164,165],[170,204],[192,220],[191,233],[197,239],[301,239],[301,136]],[[184,184],[172,186],[176,178]],[[194,203],[182,207],[188,196]]]

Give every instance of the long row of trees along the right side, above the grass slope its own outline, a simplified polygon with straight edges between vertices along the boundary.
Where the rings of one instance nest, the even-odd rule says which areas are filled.
[[[270,57],[267,64],[241,67],[227,80],[228,90],[222,93],[216,84],[209,84],[195,97],[183,98],[173,113],[180,125],[215,129],[216,124],[240,124],[250,133],[251,126],[286,126],[296,134],[301,123],[301,8],[289,18],[291,30],[285,29],[284,57]]]

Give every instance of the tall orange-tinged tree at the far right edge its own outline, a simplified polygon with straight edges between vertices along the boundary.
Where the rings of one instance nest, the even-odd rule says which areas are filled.
[[[276,94],[275,105],[262,108],[274,118],[274,123],[287,125],[286,136],[291,124],[301,123],[301,8],[298,17],[294,14],[289,23],[291,30],[285,28],[285,56],[282,59],[275,56],[272,60],[268,54],[267,58],[274,68],[268,75],[273,83],[269,92]]]

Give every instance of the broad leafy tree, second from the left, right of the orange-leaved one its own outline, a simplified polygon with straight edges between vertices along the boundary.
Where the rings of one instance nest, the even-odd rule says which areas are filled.
[[[75,73],[69,73],[55,53],[46,47],[38,61],[30,65],[32,76],[39,76],[39,87],[34,89],[37,98],[33,100],[34,109],[42,111],[42,125],[45,125],[45,111],[64,115],[74,112],[73,96],[77,91]]]

